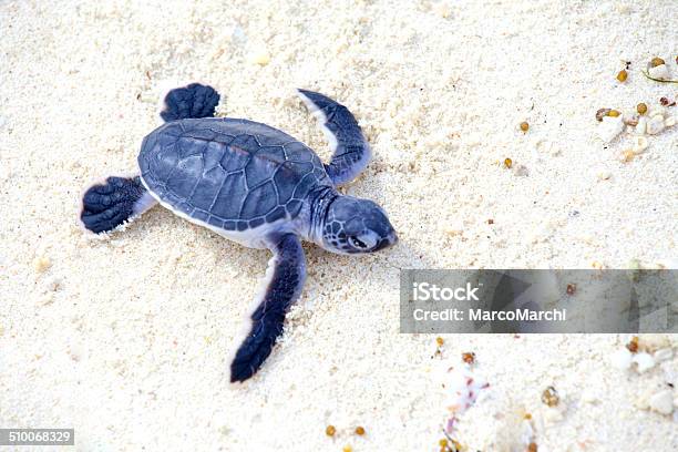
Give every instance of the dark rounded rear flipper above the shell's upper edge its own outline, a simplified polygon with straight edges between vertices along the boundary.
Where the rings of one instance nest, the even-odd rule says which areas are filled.
[[[189,117],[213,117],[219,97],[219,93],[209,85],[191,83],[175,88],[165,95],[160,115],[165,122]]]

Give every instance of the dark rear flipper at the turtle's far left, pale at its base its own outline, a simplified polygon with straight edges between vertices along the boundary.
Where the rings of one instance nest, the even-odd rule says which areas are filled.
[[[109,177],[104,184],[96,184],[85,192],[80,219],[93,233],[107,233],[155,203],[141,177]]]

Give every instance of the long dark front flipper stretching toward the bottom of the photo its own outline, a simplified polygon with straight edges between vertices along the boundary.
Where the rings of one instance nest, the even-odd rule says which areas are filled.
[[[251,329],[230,364],[230,381],[245,381],[256,373],[282,333],[285,315],[299,298],[306,280],[306,259],[294,234],[269,238],[274,253],[266,270],[266,287],[251,314]]]

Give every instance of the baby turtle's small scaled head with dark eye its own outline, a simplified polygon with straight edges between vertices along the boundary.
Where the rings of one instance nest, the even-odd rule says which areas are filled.
[[[369,199],[338,196],[328,207],[322,247],[339,254],[373,253],[398,242],[386,212]]]

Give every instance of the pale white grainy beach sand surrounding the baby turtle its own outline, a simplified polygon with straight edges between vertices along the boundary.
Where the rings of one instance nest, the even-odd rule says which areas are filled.
[[[521,410],[540,451],[678,450],[678,422],[636,407],[678,383],[675,357],[638,376],[608,364],[622,336],[449,336],[441,360],[433,337],[398,332],[399,268],[676,257],[678,127],[625,164],[630,138],[604,145],[594,120],[678,95],[638,72],[662,55],[678,76],[675,1],[97,3],[0,4],[0,427],[74,427],[83,451],[434,451],[436,369],[472,350],[491,387],[462,417],[469,450],[508,450]],[[76,222],[92,181],[135,171],[167,79],[213,84],[219,114],[323,157],[292,89],[340,100],[374,151],[346,191],[401,239],[363,257],[308,247],[284,340],[235,389],[226,357],[267,253],[163,208],[103,242]],[[566,407],[553,422],[549,384]]]

